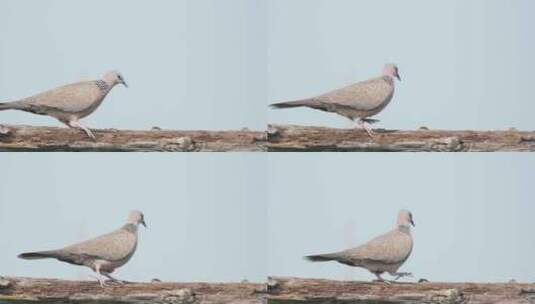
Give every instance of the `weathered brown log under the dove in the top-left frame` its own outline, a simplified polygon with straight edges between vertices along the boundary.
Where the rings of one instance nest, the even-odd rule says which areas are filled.
[[[0,151],[229,152],[265,151],[265,132],[94,130],[96,141],[67,128],[0,126]]]

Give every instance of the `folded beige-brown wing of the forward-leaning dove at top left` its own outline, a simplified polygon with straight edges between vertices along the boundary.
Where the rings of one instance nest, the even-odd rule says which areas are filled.
[[[68,113],[84,111],[102,98],[94,81],[66,85],[19,101],[20,104]]]

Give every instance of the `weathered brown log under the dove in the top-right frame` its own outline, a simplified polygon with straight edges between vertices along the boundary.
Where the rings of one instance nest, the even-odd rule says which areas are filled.
[[[535,151],[535,132],[363,130],[277,126],[268,130],[271,152],[495,152]]]

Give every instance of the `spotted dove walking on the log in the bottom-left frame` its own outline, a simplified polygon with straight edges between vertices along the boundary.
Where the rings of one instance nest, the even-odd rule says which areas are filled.
[[[134,210],[128,215],[126,224],[111,233],[61,249],[26,252],[19,254],[18,257],[25,260],[51,258],[89,267],[97,274],[97,280],[102,287],[107,286],[103,276],[112,282],[124,283],[111,274],[126,264],[136,252],[140,224],[147,228],[143,213]]]

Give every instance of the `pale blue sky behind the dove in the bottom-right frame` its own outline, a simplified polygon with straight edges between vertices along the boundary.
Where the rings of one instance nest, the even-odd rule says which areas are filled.
[[[355,247],[414,215],[400,269],[431,281],[535,280],[533,168],[520,154],[269,155],[268,272],[372,280],[303,256]]]

